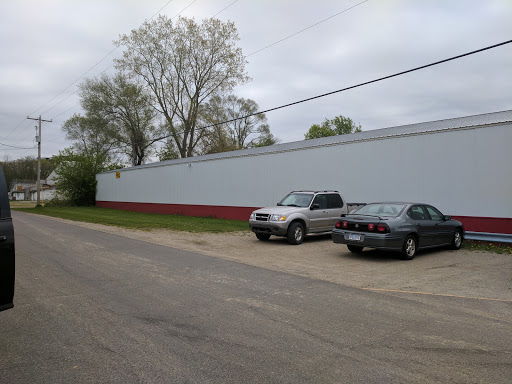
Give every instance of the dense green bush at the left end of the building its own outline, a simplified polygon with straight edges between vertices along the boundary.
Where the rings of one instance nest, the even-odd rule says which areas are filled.
[[[59,198],[70,205],[94,205],[96,174],[121,168],[101,154],[84,154],[66,148],[55,157]]]

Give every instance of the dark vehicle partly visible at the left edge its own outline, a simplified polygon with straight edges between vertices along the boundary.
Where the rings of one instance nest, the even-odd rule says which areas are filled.
[[[14,307],[14,227],[8,191],[0,167],[0,311]]]

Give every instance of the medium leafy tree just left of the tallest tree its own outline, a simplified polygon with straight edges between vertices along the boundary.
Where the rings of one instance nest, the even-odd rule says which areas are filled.
[[[167,136],[155,124],[150,95],[122,73],[85,80],[79,86],[79,95],[88,122],[103,124],[110,143],[118,144],[132,165],[143,164],[154,143]]]

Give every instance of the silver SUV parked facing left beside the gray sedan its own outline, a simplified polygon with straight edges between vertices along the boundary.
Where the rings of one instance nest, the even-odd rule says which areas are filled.
[[[349,209],[338,191],[294,191],[277,206],[254,211],[249,227],[260,240],[275,235],[300,244],[308,233],[330,232]]]

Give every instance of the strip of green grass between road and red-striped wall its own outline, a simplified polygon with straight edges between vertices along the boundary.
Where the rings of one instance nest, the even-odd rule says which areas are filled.
[[[148,231],[151,229],[171,229],[187,232],[221,233],[249,230],[248,221],[159,215],[99,207],[13,207],[12,209],[20,212],[59,217],[61,219]]]

